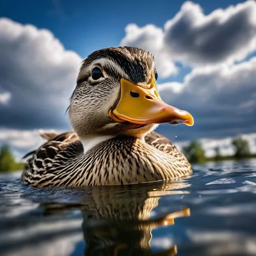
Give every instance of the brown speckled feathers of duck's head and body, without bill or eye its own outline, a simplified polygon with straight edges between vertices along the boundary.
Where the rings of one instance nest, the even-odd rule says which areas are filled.
[[[101,67],[104,79],[91,78],[94,66]],[[89,55],[82,63],[69,107],[76,133],[41,134],[48,141],[27,155],[22,182],[36,187],[113,185],[191,173],[190,164],[175,145],[151,132],[155,125],[127,129],[127,122],[116,123],[108,116],[120,95],[121,78],[143,84],[155,72],[153,56],[142,49],[108,48]],[[84,154],[80,140],[103,135],[113,138]]]

